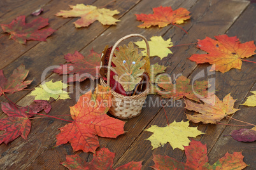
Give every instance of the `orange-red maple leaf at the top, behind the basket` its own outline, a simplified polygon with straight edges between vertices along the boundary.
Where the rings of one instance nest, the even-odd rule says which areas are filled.
[[[183,23],[184,20],[188,20],[190,18],[189,11],[185,8],[178,8],[174,10],[169,7],[159,6],[157,8],[153,8],[153,14],[136,14],[137,20],[144,22],[139,25],[139,28],[149,28],[154,25],[158,25],[160,27],[166,27],[170,23],[174,25],[174,23]]]

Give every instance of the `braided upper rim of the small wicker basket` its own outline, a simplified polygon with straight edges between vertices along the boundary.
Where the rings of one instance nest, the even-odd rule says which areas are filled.
[[[106,82],[103,80],[103,78],[100,78],[100,81],[101,81],[101,85],[104,86],[104,87],[107,87],[108,85],[106,84]],[[149,91],[150,91],[150,83],[147,84],[148,86],[146,87],[146,90],[143,91],[143,93],[140,93],[139,95],[133,95],[133,96],[124,96],[124,95],[121,95],[117,92],[115,92],[113,89],[111,89],[111,93],[113,96],[116,96],[117,98],[121,98],[121,99],[124,99],[124,100],[134,100],[134,99],[138,99],[138,98],[141,98],[143,96],[146,96],[148,95]]]

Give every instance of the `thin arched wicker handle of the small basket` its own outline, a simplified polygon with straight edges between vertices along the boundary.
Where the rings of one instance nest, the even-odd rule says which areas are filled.
[[[108,86],[110,86],[110,67],[111,67],[111,62],[112,62],[112,58],[113,58],[113,55],[114,55],[114,51],[115,51],[115,49],[117,48],[117,46],[120,42],[124,41],[125,39],[128,39],[129,37],[141,37],[146,42],[146,55],[148,55],[148,57],[150,56],[150,48],[149,48],[148,41],[141,34],[129,34],[127,36],[124,36],[124,37],[120,38],[117,42],[115,42],[115,45],[113,46],[113,48],[111,50],[111,53],[110,53],[110,60],[108,61],[108,75],[107,75],[107,78],[108,78],[107,84],[108,84]]]

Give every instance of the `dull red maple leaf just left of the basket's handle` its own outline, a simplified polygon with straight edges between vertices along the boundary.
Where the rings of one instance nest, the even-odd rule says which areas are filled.
[[[90,50],[90,54],[86,57],[78,51],[75,51],[73,55],[65,55],[65,59],[67,62],[71,63],[60,65],[60,67],[54,69],[53,72],[60,75],[72,74],[68,82],[81,82],[87,78],[94,80],[100,77],[99,66],[101,65],[101,55],[94,52],[93,49]]]

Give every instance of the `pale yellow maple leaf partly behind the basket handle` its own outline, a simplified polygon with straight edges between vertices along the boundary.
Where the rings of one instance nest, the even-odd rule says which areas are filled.
[[[166,57],[168,54],[172,54],[170,47],[173,46],[173,42],[171,39],[167,39],[166,41],[162,39],[161,36],[153,36],[150,38],[151,41],[148,41],[150,45],[150,56],[159,56],[162,58]],[[139,48],[145,48],[144,51],[141,51],[143,55],[146,55],[146,44],[143,41],[134,42]]]

